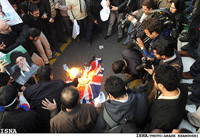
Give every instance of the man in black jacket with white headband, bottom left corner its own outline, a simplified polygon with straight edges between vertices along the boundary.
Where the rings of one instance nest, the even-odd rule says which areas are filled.
[[[0,129],[14,129],[16,133],[39,132],[40,125],[35,111],[26,111],[19,106],[18,92],[15,86],[8,85],[0,88]]]

